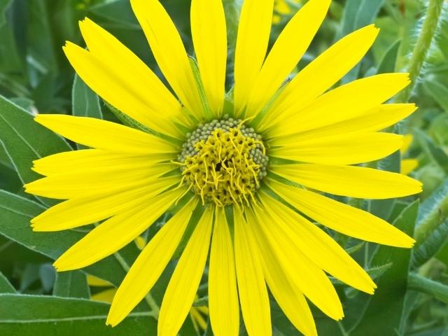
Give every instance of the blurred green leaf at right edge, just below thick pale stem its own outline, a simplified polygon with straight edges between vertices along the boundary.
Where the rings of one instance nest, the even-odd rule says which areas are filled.
[[[412,255],[412,268],[420,267],[433,258],[448,241],[448,220],[437,226],[430,235],[414,248]]]

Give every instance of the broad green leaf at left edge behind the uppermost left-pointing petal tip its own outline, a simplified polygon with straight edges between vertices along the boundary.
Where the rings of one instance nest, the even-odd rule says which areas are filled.
[[[8,153],[23,183],[41,176],[31,171],[32,161],[71,147],[64,139],[36,123],[24,109],[0,96],[0,142]],[[43,199],[45,204],[54,200]]]

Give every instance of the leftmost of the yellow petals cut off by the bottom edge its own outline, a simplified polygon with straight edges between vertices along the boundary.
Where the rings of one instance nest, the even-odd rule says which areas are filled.
[[[209,254],[212,226],[213,208],[208,207],[188,240],[165,291],[160,307],[159,336],[176,336],[195,301]]]

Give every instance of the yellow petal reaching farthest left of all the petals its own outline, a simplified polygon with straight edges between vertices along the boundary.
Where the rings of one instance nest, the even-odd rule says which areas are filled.
[[[172,169],[170,165],[153,165],[139,167],[126,165],[128,171],[109,169],[95,169],[92,172],[66,172],[52,175],[25,184],[25,191],[29,194],[69,200],[76,197],[96,195],[102,197],[123,190],[131,190],[151,183],[158,184],[158,188],[166,188],[179,183],[179,176],[158,179],[159,176]]]

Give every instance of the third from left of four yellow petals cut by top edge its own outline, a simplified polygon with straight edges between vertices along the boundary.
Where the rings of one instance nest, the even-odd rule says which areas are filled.
[[[274,0],[245,0],[239,17],[235,49],[235,111],[242,113],[265,61]],[[242,113],[242,114],[241,114]]]

